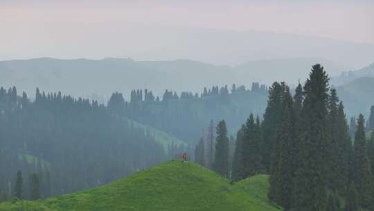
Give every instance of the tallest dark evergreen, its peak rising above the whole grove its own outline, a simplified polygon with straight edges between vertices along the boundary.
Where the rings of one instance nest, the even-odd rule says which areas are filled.
[[[292,196],[292,208],[298,211],[326,210],[327,207],[328,80],[326,71],[317,64],[312,66],[312,72],[304,86],[300,166],[296,171]]]

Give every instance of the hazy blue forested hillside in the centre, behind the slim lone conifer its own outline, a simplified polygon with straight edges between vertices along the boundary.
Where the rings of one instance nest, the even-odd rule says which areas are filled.
[[[266,105],[267,87],[258,83],[253,83],[251,90],[235,85],[230,90],[228,87],[213,86],[202,90],[201,94],[182,92],[180,96],[166,90],[162,100],[155,99],[149,90],[144,93],[143,90],[134,90],[131,96],[131,101],[124,103],[120,95],[112,95],[109,109],[196,144],[212,120],[217,124],[225,119],[229,133],[232,134],[240,128],[245,114],[262,114]]]

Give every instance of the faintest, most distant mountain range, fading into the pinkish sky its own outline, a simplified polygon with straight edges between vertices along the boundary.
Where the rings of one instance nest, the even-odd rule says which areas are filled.
[[[256,22],[256,20],[253,20]],[[29,23],[3,29],[23,34]],[[188,58],[214,65],[240,65],[252,60],[321,57],[355,69],[374,60],[374,44],[259,31],[100,22],[43,23],[28,31],[40,42],[3,42],[0,58],[127,58],[177,60]],[[65,33],[69,31],[69,36]],[[53,39],[51,39],[53,37]],[[9,37],[10,39],[14,38]],[[55,41],[61,41],[59,45]]]

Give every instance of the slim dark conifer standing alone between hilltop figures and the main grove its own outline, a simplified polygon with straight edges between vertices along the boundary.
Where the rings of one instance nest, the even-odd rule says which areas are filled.
[[[213,169],[221,176],[229,178],[229,138],[224,120],[217,125]]]

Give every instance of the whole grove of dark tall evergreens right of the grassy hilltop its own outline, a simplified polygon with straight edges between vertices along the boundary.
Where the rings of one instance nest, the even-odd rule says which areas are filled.
[[[231,168],[221,121],[212,169],[234,181],[270,174],[269,199],[285,210],[374,210],[374,106],[368,124],[359,115],[348,126],[328,82],[317,64],[294,96],[285,83],[273,83],[262,119],[250,115],[238,130]],[[196,162],[205,166],[206,146],[201,140],[195,149]]]

